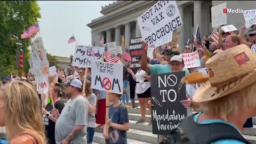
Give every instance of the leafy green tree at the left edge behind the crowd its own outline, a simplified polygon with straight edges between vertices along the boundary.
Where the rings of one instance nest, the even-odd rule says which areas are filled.
[[[0,1],[0,77],[18,73],[15,69],[15,50],[25,52],[26,65],[23,71],[29,70],[28,59],[30,39],[21,39],[23,30],[38,22],[41,18],[37,1]]]

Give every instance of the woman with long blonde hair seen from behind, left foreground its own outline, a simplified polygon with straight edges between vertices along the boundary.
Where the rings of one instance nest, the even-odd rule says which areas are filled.
[[[10,144],[45,144],[41,107],[35,88],[13,81],[0,87],[0,126],[6,126]]]

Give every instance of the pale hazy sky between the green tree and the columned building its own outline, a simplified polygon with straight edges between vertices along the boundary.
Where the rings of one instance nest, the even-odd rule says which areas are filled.
[[[42,18],[40,35],[47,52],[60,57],[74,55],[76,43],[68,44],[74,34],[79,45],[91,44],[91,29],[86,25],[101,17],[101,6],[114,1],[38,1]]]

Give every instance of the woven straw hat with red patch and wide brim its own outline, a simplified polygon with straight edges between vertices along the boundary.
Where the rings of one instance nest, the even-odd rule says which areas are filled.
[[[186,83],[202,83],[193,97],[196,102],[218,99],[256,82],[256,55],[245,44],[213,55],[206,68],[207,77],[196,73],[183,78]]]

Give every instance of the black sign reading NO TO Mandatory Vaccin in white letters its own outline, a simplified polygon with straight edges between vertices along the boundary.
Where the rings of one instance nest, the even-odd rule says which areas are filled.
[[[167,135],[187,116],[187,109],[181,104],[186,99],[186,84],[180,85],[185,71],[151,75],[151,103],[153,133]],[[179,90],[180,89],[180,90]]]

